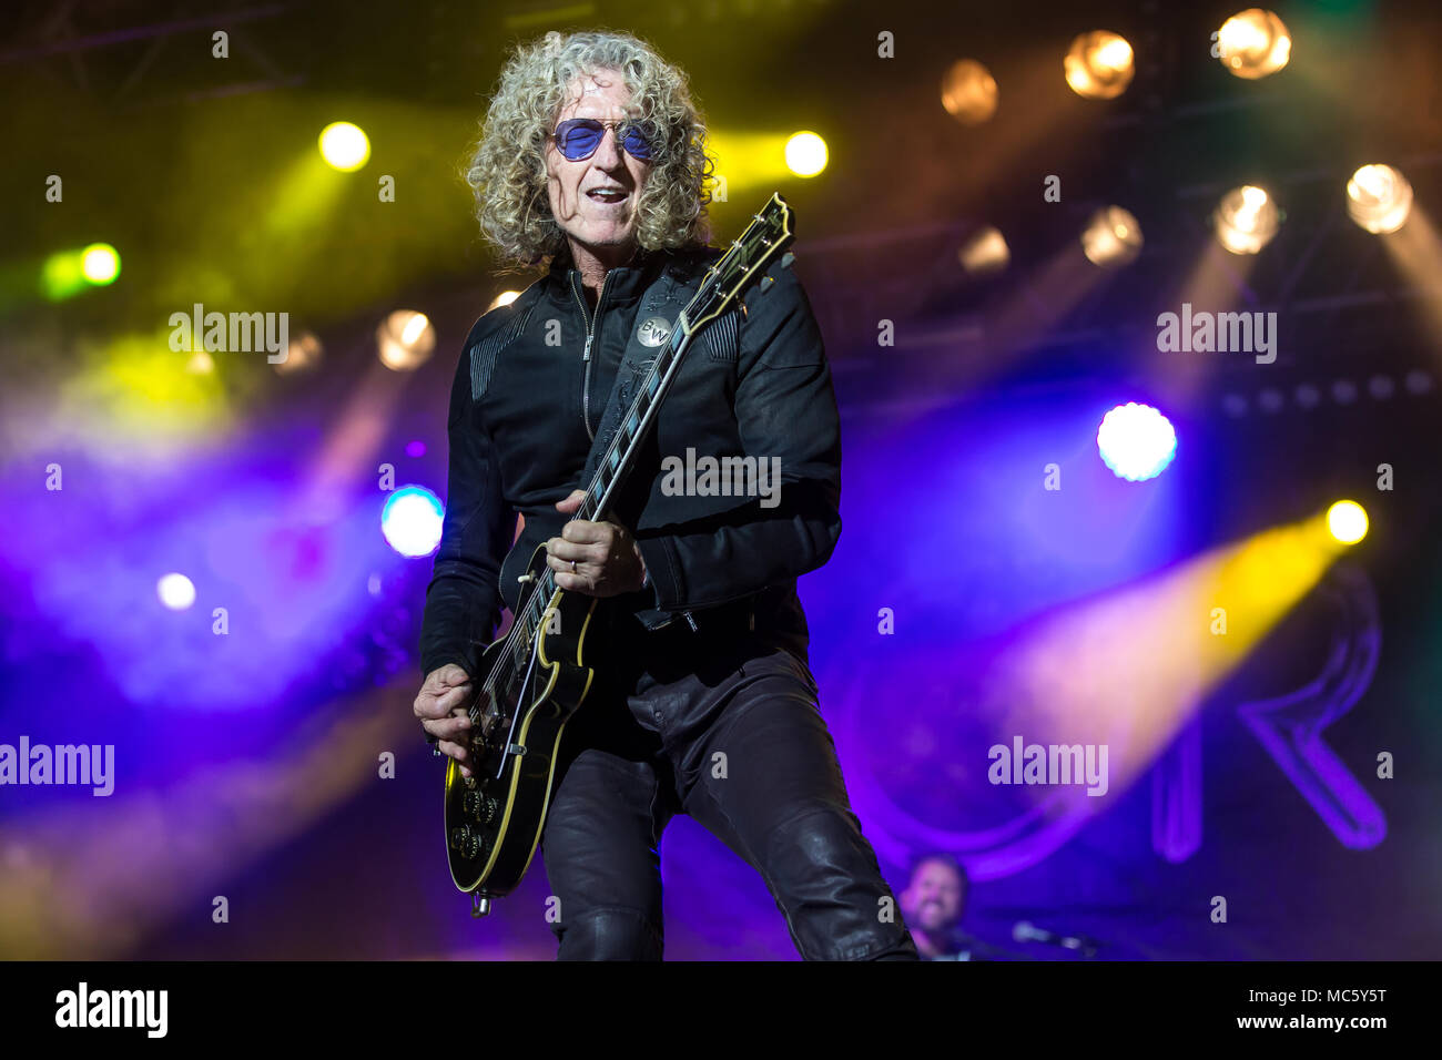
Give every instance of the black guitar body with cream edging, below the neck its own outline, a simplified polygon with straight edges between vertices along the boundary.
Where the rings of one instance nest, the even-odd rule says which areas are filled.
[[[534,578],[519,607],[536,591],[545,555],[544,545],[531,555],[526,571]],[[585,701],[594,676],[583,650],[596,604],[575,593],[551,594],[534,635],[539,643],[526,643],[523,659],[531,665],[497,684],[495,712],[473,738],[470,779],[454,759],[446,763],[446,849],[451,880],[463,891],[487,898],[509,894],[535,857],[565,723]],[[513,650],[509,639],[493,643],[479,671],[492,672],[508,649]]]

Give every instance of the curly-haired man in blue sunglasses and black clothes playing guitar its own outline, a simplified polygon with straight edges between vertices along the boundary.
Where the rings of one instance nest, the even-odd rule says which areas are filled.
[[[660,959],[660,835],[688,813],[760,871],[805,959],[916,959],[808,665],[796,578],[841,534],[841,441],[792,270],[698,333],[614,521],[570,519],[623,355],[660,345],[720,255],[711,172],[685,75],[634,37],[548,33],[506,63],[469,182],[497,254],[547,271],[476,323],[456,371],[415,715],[470,776],[497,590],[513,607],[544,544],[561,590],[603,599],[541,839],[559,958]],[[779,493],[678,490],[660,461],[688,449],[779,459]]]

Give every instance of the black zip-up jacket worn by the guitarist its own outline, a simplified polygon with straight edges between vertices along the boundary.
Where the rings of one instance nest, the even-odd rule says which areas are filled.
[[[448,496],[425,597],[423,672],[448,662],[470,669],[500,604],[515,606],[515,575],[559,535],[568,516],[555,503],[585,486],[591,434],[627,342],[656,304],[647,291],[662,270],[694,293],[718,255],[642,252],[607,274],[593,313],[562,252],[521,297],[472,327],[450,398]],[[764,293],[750,291],[744,312],[714,320],[686,352],[649,459],[633,472],[629,509],[613,516],[636,535],[650,584],[610,607],[647,629],[678,617],[704,629],[708,613],[750,600],[757,629],[774,627],[805,652],[796,578],[826,562],[841,535],[841,434],[806,293],[792,268],[773,261],[769,274]],[[779,503],[668,495],[660,459],[684,460],[688,449],[696,457],[779,457]],[[512,547],[518,512],[525,526]]]

